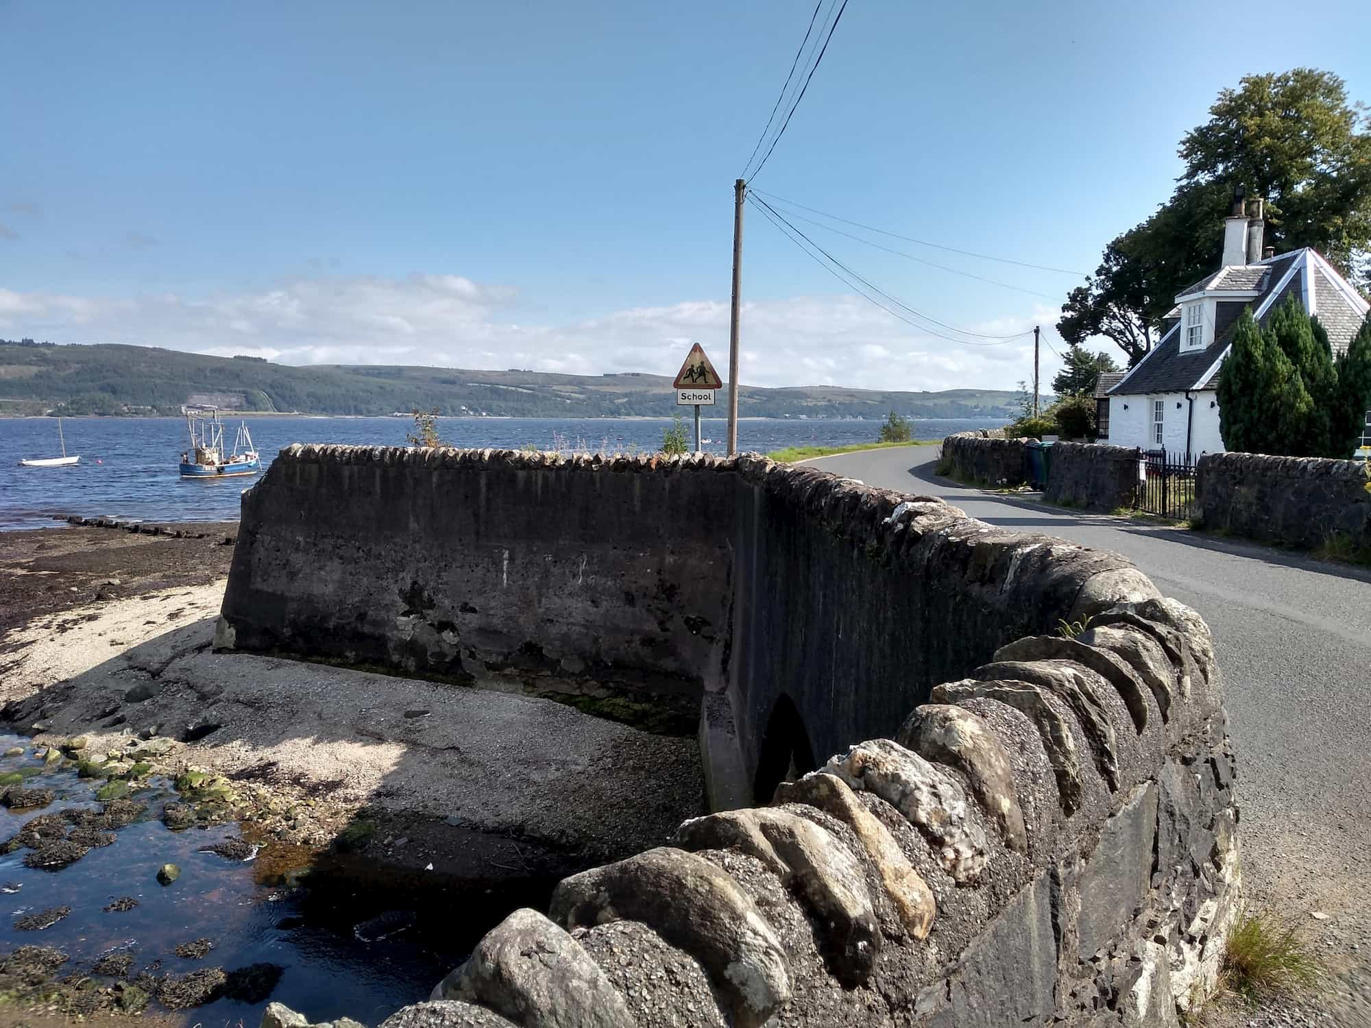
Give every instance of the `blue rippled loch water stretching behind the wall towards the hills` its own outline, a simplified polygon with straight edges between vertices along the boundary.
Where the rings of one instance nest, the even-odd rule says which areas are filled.
[[[291,443],[403,445],[409,418],[247,418],[252,440],[270,461]],[[658,450],[666,418],[441,418],[443,440],[461,447],[540,450]],[[1001,422],[928,419],[914,422],[920,439],[991,428]],[[232,439],[237,419],[225,422]],[[742,450],[769,452],[792,445],[847,445],[873,440],[876,421],[790,421],[747,418],[739,424]],[[63,421],[75,467],[19,467],[21,458],[55,456],[53,418],[0,418],[0,529],[47,528],[53,514],[141,521],[233,521],[239,493],[255,478],[184,481],[177,474],[186,447],[180,418],[71,418]],[[705,450],[724,451],[725,422],[706,418]]]

